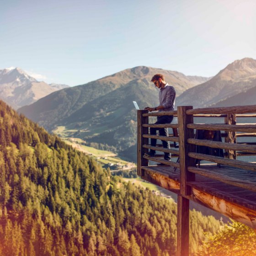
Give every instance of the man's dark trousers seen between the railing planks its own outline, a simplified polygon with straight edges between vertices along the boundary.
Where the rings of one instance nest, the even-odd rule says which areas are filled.
[[[155,124],[164,124],[164,123],[171,123],[173,119],[173,116],[161,116],[157,117],[157,122]],[[150,128],[150,134],[156,135],[156,131],[159,130],[160,136],[166,136],[168,137],[168,128]],[[170,149],[170,143],[169,141],[162,140],[163,147]],[[151,139],[151,146],[156,146],[156,139]],[[155,154],[155,150],[150,149],[150,151]],[[171,160],[171,153],[165,152],[165,160]]]

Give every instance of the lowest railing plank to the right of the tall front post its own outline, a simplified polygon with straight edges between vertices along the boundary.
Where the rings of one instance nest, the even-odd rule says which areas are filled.
[[[214,179],[216,181],[222,181],[224,183],[236,186],[236,187],[242,187],[251,191],[256,192],[256,183],[251,181],[245,181],[236,179],[234,177],[225,175],[224,170],[211,167],[210,170],[204,169],[204,168],[197,168],[197,167],[191,167],[189,166],[188,171]]]

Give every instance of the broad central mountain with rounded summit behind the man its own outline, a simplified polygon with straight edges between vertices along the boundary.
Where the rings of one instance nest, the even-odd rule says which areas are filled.
[[[132,101],[140,108],[159,105],[159,89],[150,82],[157,73],[165,76],[177,95],[209,79],[139,66],[53,92],[18,111],[48,131],[59,134],[56,128],[65,127],[72,130],[66,135],[127,149],[136,143],[137,112]]]

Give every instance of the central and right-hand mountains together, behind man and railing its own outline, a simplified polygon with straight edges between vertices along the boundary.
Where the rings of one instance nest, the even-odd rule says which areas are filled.
[[[128,152],[136,147],[137,130],[132,101],[140,108],[158,106],[159,90],[150,82],[156,73],[175,87],[176,106],[256,104],[256,60],[245,58],[235,60],[212,78],[145,66],[126,69],[55,91],[18,111],[49,132],[116,147],[120,156],[131,160]]]

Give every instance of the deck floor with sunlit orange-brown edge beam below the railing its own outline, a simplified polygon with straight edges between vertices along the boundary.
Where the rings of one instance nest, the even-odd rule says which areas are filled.
[[[142,179],[181,196],[180,182],[161,175],[161,166],[146,166],[146,168],[147,170],[144,169],[144,176]],[[158,171],[158,173],[150,170],[151,168]],[[171,170],[171,167],[167,168],[170,168],[170,175],[173,175],[174,171]],[[163,173],[166,171],[168,171],[166,168],[165,171],[162,170]],[[179,173],[178,169],[176,171]],[[251,196],[253,194],[254,197],[251,197],[251,200],[248,200],[246,195],[249,196],[249,194],[246,194],[247,191],[245,189],[238,188],[241,190],[241,193],[234,193],[234,195],[232,195],[230,192],[223,192],[214,188],[219,181],[211,181],[206,177],[203,177],[201,180],[205,181],[202,183],[203,185],[200,182],[191,181],[190,183],[193,183],[191,184],[191,195],[184,197],[256,229],[256,192],[249,191]],[[225,184],[225,186],[229,185]]]

